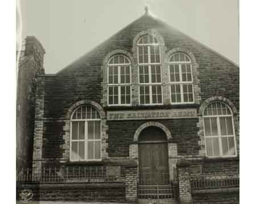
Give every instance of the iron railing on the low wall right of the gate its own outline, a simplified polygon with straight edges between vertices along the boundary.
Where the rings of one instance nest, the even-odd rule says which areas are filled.
[[[191,177],[191,189],[222,189],[239,187],[239,178],[208,179],[205,177]]]

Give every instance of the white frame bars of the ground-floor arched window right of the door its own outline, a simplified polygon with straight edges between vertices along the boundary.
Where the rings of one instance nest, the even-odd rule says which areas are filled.
[[[213,102],[214,103],[214,102]],[[222,102],[220,102],[222,103]],[[208,105],[210,105],[212,103],[209,103]],[[208,107],[208,105],[205,107],[204,111],[203,111],[203,127],[204,127],[204,143],[205,143],[205,156],[207,156],[208,158],[233,158],[237,156],[237,141],[236,141],[236,132],[235,132],[235,128],[234,128],[234,117],[233,117],[233,112],[232,109],[230,109],[230,107],[228,105],[224,104],[230,111],[231,114],[222,114],[222,115],[211,115],[211,116],[204,116],[204,111],[205,109]],[[220,126],[220,117],[231,117],[232,120],[232,128],[233,128],[233,135],[221,135],[221,126]],[[205,124],[204,124],[204,118],[217,118],[217,132],[218,135],[216,136],[206,136],[205,134]],[[210,122],[210,126],[212,126],[211,122]],[[234,155],[223,155],[223,150],[222,150],[222,140],[221,138],[224,137],[233,137],[234,139],[234,150],[235,150],[235,154]],[[218,148],[220,149],[220,155],[218,156],[208,156],[207,155],[207,143],[206,143],[206,139],[207,138],[218,138]]]

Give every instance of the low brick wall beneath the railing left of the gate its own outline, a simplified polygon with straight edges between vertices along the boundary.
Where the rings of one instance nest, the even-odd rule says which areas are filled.
[[[33,199],[40,201],[102,201],[125,202],[125,184],[122,182],[90,184],[26,184],[18,185],[18,194],[22,189],[31,189]]]

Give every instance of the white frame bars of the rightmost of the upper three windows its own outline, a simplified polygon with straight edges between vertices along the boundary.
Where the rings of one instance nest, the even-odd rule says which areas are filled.
[[[193,67],[192,67],[192,63],[191,60],[189,62],[187,61],[175,61],[175,62],[170,62],[170,58],[176,53],[173,53],[168,60],[168,78],[169,78],[169,91],[170,91],[170,103],[171,104],[175,104],[175,105],[179,105],[179,104],[193,104],[195,103],[195,93],[194,93],[194,86],[193,86]],[[183,53],[185,54],[185,53]],[[187,55],[187,54],[185,54]],[[190,59],[190,57],[187,55],[187,57]],[[182,79],[182,70],[181,70],[181,65],[187,65],[190,64],[191,66],[191,82],[183,82]],[[171,82],[171,70],[170,70],[170,65],[179,65],[179,78],[180,78],[180,82]],[[192,97],[193,97],[193,101],[188,101],[185,102],[184,101],[184,92],[183,92],[183,84],[191,84],[192,85]],[[171,92],[171,85],[179,85],[180,86],[180,98],[181,101],[180,102],[172,102],[172,92]]]

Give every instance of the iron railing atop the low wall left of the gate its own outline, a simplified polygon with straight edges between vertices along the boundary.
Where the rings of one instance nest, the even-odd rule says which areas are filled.
[[[36,173],[30,168],[20,169],[17,181],[22,182],[105,182],[124,181],[125,175],[109,176],[106,167],[65,167],[65,168],[42,168]]]

